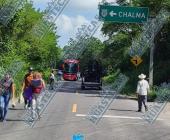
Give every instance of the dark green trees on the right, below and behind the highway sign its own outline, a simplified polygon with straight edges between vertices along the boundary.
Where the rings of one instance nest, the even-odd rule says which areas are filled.
[[[161,9],[170,11],[170,0],[131,0],[131,3],[126,3],[126,5],[149,7],[150,18],[154,18]],[[125,88],[126,92],[135,92],[137,76],[140,73],[149,76],[150,50],[148,49],[142,56],[143,62],[138,67],[130,62],[131,57],[127,53],[132,39],[135,39],[142,32],[141,29],[142,24],[107,22],[102,27],[102,32],[109,36],[109,39],[105,41],[104,59],[110,65],[113,65],[114,69],[120,69],[122,73],[130,78]],[[154,85],[159,85],[170,80],[170,20],[167,20],[159,31],[154,39],[154,44]]]

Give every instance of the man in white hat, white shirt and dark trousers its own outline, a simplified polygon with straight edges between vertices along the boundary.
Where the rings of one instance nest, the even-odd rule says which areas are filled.
[[[146,105],[147,102],[147,94],[149,92],[149,83],[145,80],[146,75],[143,73],[138,76],[140,79],[137,84],[137,96],[138,96],[138,112],[142,111],[142,103],[145,107],[145,111],[148,110],[148,107]]]

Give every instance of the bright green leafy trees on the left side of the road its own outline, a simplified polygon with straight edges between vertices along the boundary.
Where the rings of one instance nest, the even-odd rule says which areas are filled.
[[[11,5],[1,0],[0,8],[3,9],[5,6]],[[61,50],[57,45],[58,36],[55,31],[49,31],[42,39],[31,33],[32,28],[42,21],[43,13],[33,8],[32,3],[26,2],[7,25],[0,23],[1,69],[7,68],[13,60],[25,63],[15,77],[17,89],[20,88],[19,85],[29,66],[45,74],[44,78],[48,75],[50,68],[57,66]]]

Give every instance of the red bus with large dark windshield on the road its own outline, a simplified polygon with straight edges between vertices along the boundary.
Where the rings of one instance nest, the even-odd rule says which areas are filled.
[[[63,79],[76,81],[79,72],[79,61],[76,59],[67,59],[63,64]]]

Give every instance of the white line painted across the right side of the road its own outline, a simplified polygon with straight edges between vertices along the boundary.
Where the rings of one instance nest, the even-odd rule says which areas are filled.
[[[93,115],[86,115],[86,114],[76,114],[77,117],[86,117],[86,116],[93,116]],[[142,120],[141,117],[131,117],[131,116],[113,116],[113,115],[103,115],[102,118],[115,118],[115,119],[137,119]],[[163,119],[157,119],[163,120]]]

